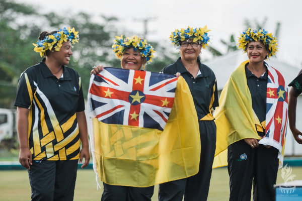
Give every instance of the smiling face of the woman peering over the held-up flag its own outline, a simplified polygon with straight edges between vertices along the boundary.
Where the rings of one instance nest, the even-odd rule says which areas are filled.
[[[140,70],[142,59],[139,51],[134,51],[133,47],[126,49],[123,53],[121,65],[123,69]]]

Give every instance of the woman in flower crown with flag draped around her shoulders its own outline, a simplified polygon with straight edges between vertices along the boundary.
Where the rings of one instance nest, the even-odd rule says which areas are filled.
[[[251,200],[252,184],[253,200],[275,200],[273,185],[283,163],[287,126],[287,86],[264,60],[275,55],[276,42],[264,29],[249,28],[241,34],[239,49],[249,60],[231,74],[215,111],[215,159],[223,166],[228,158],[230,200]]]

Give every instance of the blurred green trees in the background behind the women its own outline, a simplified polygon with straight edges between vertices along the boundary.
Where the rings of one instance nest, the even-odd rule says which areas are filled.
[[[69,26],[79,31],[80,41],[72,49],[73,56],[68,66],[81,75],[84,96],[87,96],[92,66],[102,64],[120,67],[120,61],[114,56],[111,45],[115,36],[130,36],[129,30],[120,33],[117,26],[119,19],[115,17],[100,16],[100,19],[96,21],[89,13],[42,15],[29,5],[0,0],[0,108],[14,108],[20,74],[42,60],[34,52],[32,45],[37,42],[42,31],[50,32]],[[255,22],[254,29],[264,27],[266,20]],[[244,24],[247,28],[252,26],[249,20],[245,20]],[[277,24],[276,35],[279,28],[280,23]],[[174,49],[169,42],[147,41],[152,44],[156,53],[153,62],[146,65],[146,70],[159,72],[178,58],[179,55],[172,52]],[[230,36],[230,41],[220,40],[227,53],[237,50],[236,41],[234,35]],[[214,47],[209,47],[209,50],[213,57],[223,55]]]

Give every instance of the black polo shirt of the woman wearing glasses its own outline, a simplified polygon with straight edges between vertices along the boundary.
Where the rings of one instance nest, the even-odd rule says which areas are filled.
[[[216,77],[214,72],[208,66],[202,64],[199,59],[197,59],[197,63],[201,74],[197,75],[196,78],[182,64],[181,57],[175,63],[166,66],[161,73],[174,75],[179,72],[189,85],[198,119],[211,121],[214,120],[211,110],[218,107]]]

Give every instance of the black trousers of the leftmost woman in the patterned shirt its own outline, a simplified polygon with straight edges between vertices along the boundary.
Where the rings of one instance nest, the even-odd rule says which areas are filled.
[[[28,170],[32,201],[72,201],[78,160],[33,161]]]

